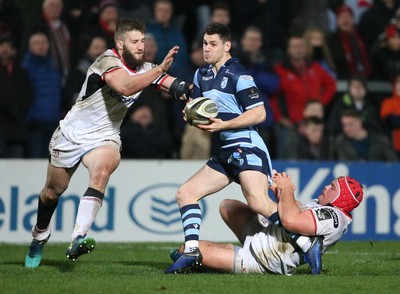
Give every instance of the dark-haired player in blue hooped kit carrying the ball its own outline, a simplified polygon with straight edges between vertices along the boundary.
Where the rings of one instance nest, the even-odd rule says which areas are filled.
[[[218,116],[209,125],[197,127],[219,132],[221,146],[195,175],[177,191],[185,248],[165,273],[185,273],[201,263],[199,234],[201,209],[198,201],[216,193],[233,181],[241,186],[249,207],[277,223],[277,205],[268,197],[271,158],[256,125],[266,119],[257,86],[238,59],[230,54],[229,29],[218,23],[206,27],[203,54],[207,65],[194,74],[192,97],[208,97],[218,105]],[[321,270],[321,244],[318,238],[294,235],[308,256],[314,274]]]

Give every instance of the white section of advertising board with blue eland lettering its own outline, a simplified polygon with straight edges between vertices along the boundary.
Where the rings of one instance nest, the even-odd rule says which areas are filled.
[[[183,241],[175,192],[203,164],[123,160],[111,176],[103,206],[88,235],[111,242]],[[46,160],[0,161],[0,242],[30,242],[46,168]],[[51,241],[70,241],[79,199],[88,180],[88,172],[81,165],[53,215]],[[236,239],[219,216],[219,203],[224,198],[244,200],[236,183],[202,200],[202,239]]]

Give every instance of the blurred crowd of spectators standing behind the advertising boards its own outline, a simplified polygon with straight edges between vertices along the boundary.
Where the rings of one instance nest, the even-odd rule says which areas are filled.
[[[400,0],[43,0],[31,2],[40,13],[29,23],[28,2],[0,0],[1,158],[48,156],[88,67],[114,47],[120,17],[146,24],[149,62],[178,45],[170,73],[187,82],[204,65],[204,27],[227,25],[232,55],[264,101],[258,129],[273,159],[400,156]],[[371,81],[392,90],[377,95]],[[219,138],[188,126],[183,107],[146,88],[121,127],[122,156],[207,159]]]

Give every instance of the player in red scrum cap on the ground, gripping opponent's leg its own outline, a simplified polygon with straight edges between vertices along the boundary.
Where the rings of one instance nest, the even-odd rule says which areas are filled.
[[[318,199],[301,205],[294,198],[290,176],[276,173],[271,190],[278,200],[283,227],[291,232],[322,239],[322,252],[334,246],[352,221],[351,212],[363,199],[363,188],[351,177],[339,177],[326,186]],[[200,241],[202,267],[215,271],[249,274],[293,275],[304,264],[304,254],[290,233],[238,200],[226,199],[220,214],[242,246]],[[178,259],[183,250],[171,251]],[[199,270],[199,269],[195,269]],[[203,271],[203,269],[200,269]]]

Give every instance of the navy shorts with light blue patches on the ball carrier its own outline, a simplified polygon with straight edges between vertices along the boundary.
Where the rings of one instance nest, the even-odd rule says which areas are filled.
[[[207,165],[239,183],[239,174],[245,170],[256,170],[270,176],[271,158],[264,151],[250,147],[220,149],[208,160]]]

